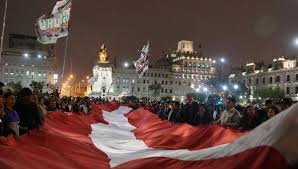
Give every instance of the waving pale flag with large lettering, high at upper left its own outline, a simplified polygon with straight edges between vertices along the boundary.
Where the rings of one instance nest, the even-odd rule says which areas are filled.
[[[68,36],[71,3],[71,0],[57,1],[50,14],[37,19],[35,32],[40,43],[53,44]]]

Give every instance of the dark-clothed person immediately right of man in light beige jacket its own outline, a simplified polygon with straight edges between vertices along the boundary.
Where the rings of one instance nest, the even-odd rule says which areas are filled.
[[[251,130],[261,124],[261,119],[257,114],[256,107],[248,105],[241,118],[241,127],[245,130]]]

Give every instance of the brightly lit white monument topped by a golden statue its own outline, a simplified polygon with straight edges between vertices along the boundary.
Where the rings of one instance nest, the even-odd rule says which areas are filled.
[[[103,44],[98,53],[97,64],[93,67],[93,77],[89,80],[91,85],[89,96],[111,96],[114,92],[112,75],[113,65],[108,61],[107,48]]]

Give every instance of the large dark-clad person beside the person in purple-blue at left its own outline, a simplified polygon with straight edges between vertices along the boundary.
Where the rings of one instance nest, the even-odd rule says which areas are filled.
[[[15,109],[20,117],[20,134],[39,128],[43,124],[43,114],[38,105],[32,102],[31,89],[23,88],[20,91]]]

